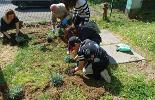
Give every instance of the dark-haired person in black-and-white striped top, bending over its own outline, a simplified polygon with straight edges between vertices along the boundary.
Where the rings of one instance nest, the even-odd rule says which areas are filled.
[[[90,10],[87,0],[62,0],[68,11],[74,9],[73,22],[76,27],[89,22]],[[65,20],[65,19],[64,19]]]

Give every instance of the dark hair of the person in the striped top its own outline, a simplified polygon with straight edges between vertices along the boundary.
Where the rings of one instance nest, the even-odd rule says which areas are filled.
[[[78,0],[62,0],[62,2],[65,4],[67,10],[73,9],[75,7],[77,1]]]

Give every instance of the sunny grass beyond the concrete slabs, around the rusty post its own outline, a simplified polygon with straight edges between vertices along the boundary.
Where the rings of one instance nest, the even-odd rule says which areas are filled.
[[[109,29],[116,34],[120,34],[127,41],[138,45],[142,49],[148,50],[155,57],[155,12],[142,11],[139,19],[128,19],[123,12],[113,10],[109,22],[102,19],[102,6],[93,5],[93,12],[99,16],[92,16],[101,29]],[[100,9],[100,10],[99,10]]]

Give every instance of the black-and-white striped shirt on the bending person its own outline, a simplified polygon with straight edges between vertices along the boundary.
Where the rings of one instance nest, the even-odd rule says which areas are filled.
[[[75,13],[78,14],[81,18],[84,18],[85,22],[89,21],[90,18],[90,11],[89,11],[89,6],[87,4],[87,0],[78,0],[76,5],[75,5]]]

